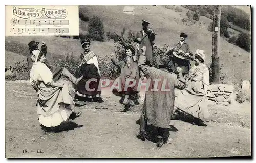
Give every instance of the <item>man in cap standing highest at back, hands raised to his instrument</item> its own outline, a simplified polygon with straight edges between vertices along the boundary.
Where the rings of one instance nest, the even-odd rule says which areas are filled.
[[[145,56],[146,56],[146,65],[150,65],[153,58],[153,41],[155,40],[155,33],[152,29],[148,28],[150,23],[142,20],[142,30],[141,34],[141,42],[140,49],[143,46],[146,46]]]

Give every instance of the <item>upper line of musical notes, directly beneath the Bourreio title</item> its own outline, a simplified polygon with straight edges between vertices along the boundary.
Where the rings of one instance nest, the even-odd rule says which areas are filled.
[[[69,20],[18,20],[12,19],[11,25],[69,25]]]

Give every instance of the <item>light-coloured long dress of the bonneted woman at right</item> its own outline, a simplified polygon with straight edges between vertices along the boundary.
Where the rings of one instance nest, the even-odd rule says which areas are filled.
[[[209,70],[205,64],[194,66],[190,69],[186,79],[186,88],[177,90],[175,107],[186,114],[196,118],[208,118],[209,112],[204,84],[209,86]]]

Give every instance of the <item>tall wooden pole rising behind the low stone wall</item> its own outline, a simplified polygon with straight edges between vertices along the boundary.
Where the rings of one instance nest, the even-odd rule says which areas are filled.
[[[221,5],[216,6],[213,16],[212,28],[212,80],[214,84],[220,84],[220,24]]]

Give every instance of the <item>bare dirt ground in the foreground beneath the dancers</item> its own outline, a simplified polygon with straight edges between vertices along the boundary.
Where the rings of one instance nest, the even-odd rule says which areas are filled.
[[[174,120],[172,143],[156,149],[136,138],[138,107],[119,112],[119,98],[77,109],[81,128],[44,133],[39,127],[35,93],[26,83],[6,82],[6,157],[223,157],[251,155],[250,108],[210,105],[207,127]],[[117,102],[117,103],[116,103]],[[107,109],[95,109],[95,107]],[[238,106],[237,106],[238,107]],[[244,109],[245,111],[241,111]],[[223,113],[225,112],[225,114]],[[232,114],[231,114],[232,113]],[[240,118],[241,117],[241,118]],[[249,119],[249,120],[248,120]],[[34,139],[34,140],[33,140]],[[27,153],[23,150],[27,149]],[[44,153],[37,153],[44,152]],[[35,153],[31,153],[35,151]]]

